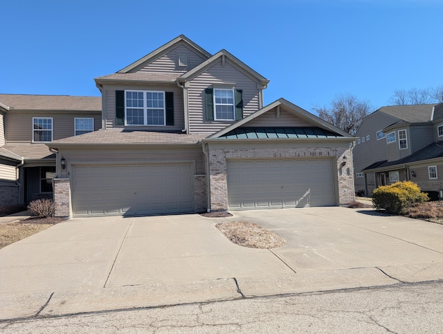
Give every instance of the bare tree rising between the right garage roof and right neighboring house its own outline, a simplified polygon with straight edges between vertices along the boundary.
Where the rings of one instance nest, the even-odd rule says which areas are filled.
[[[361,120],[370,113],[370,104],[352,94],[339,94],[331,101],[331,107],[313,108],[320,118],[337,128],[355,134]]]

